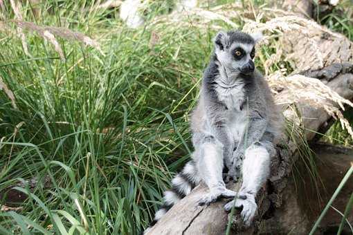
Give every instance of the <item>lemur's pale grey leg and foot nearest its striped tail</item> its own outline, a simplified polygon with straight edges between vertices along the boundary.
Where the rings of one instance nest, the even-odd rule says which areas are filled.
[[[197,171],[199,176],[210,189],[210,193],[206,194],[199,200],[199,205],[209,205],[215,202],[217,198],[233,198],[235,191],[226,189],[223,182],[223,146],[214,136],[206,135],[201,140],[199,147],[196,149]]]

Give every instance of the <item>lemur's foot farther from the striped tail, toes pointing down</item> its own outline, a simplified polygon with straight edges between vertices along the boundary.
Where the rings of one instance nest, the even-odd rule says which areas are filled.
[[[239,197],[227,203],[224,206],[224,209],[226,209],[227,212],[230,212],[233,207],[237,209],[242,208],[240,216],[242,217],[244,227],[249,227],[253,222],[257,210],[253,194],[239,194]]]

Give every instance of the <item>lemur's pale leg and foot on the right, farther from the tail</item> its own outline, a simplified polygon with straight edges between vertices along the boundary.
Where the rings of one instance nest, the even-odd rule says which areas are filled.
[[[255,142],[246,149],[239,197],[224,206],[227,211],[230,211],[233,206],[242,207],[241,216],[246,227],[251,225],[257,211],[255,196],[269,177],[271,156],[274,153],[273,144],[267,141]]]

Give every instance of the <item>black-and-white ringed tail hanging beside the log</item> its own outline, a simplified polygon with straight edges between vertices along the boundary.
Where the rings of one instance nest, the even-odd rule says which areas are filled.
[[[154,220],[150,224],[150,227],[156,224],[175,203],[190,194],[190,191],[199,185],[200,181],[201,178],[199,178],[195,163],[193,160],[190,160],[185,164],[183,170],[172,179],[172,189],[164,192],[163,205],[154,215]],[[150,227],[147,227],[143,234],[146,234]]]

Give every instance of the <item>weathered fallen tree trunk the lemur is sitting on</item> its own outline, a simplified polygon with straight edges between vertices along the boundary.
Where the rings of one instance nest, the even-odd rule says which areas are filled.
[[[299,1],[305,3],[305,1]],[[309,5],[298,5],[307,10],[311,10]],[[309,15],[308,12],[304,15]],[[309,15],[311,16],[311,14]],[[314,21],[312,24],[306,24],[307,31],[305,34],[287,33],[282,37],[287,55],[291,55],[291,59],[296,62],[297,73],[307,77],[320,79],[324,84],[332,88],[339,95],[347,100],[353,97],[353,46],[343,35],[339,35],[327,30],[322,26],[318,26]],[[306,50],[308,45],[315,42],[314,50]],[[280,100],[285,94],[280,92],[276,100]],[[302,102],[296,104],[300,111],[302,119],[300,120],[305,129],[311,131],[305,132],[305,138],[312,140],[316,131],[327,127],[327,121],[331,118],[323,108],[309,106]],[[299,122],[298,117],[293,109],[284,110],[284,115],[295,122]],[[315,145],[314,150],[318,153],[318,158],[323,158],[327,164],[332,166],[332,174],[327,171],[320,170],[324,167],[318,167],[318,173],[323,173],[323,183],[327,187],[327,194],[323,197],[320,205],[316,205],[316,199],[311,196],[309,200],[303,200],[302,196],[305,192],[311,192],[314,185],[307,185],[310,190],[298,192],[293,181],[292,167],[297,162],[298,146],[295,142],[289,140],[286,146],[277,146],[277,154],[271,162],[271,177],[266,185],[257,194],[258,213],[250,229],[244,231],[239,221],[239,213],[235,213],[231,221],[230,234],[307,234],[309,227],[316,220],[318,212],[321,211],[327,202],[327,196],[338,186],[338,182],[343,174],[350,167],[349,162],[352,161],[352,150],[343,149],[338,151],[334,147]],[[322,151],[325,149],[325,151]],[[334,149],[329,151],[329,149]],[[350,151],[350,156],[343,154],[344,151]],[[334,154],[335,158],[330,158]],[[300,162],[300,161],[298,161]],[[318,166],[320,162],[318,162]],[[308,183],[308,182],[307,182]],[[309,182],[310,183],[310,182]],[[347,195],[352,192],[353,183],[348,183],[349,189],[345,189],[346,193],[342,194],[341,199],[338,198],[338,208],[343,209],[344,203],[347,203]],[[239,189],[239,183],[230,183],[227,185],[229,189]],[[318,187],[316,192],[323,194],[323,189]],[[198,207],[197,200],[208,192],[205,185],[199,185],[188,196],[183,198],[179,203],[174,205],[170,211],[159,220],[147,234],[224,234],[228,224],[228,214],[224,211],[226,200],[213,203],[208,207]],[[298,195],[298,196],[296,196]],[[316,194],[314,194],[316,195]],[[305,207],[301,205],[311,205],[312,213],[307,212]],[[307,203],[307,204],[305,204]],[[332,225],[336,226],[339,218],[336,212],[329,212],[332,219]],[[349,218],[352,220],[352,215]]]

